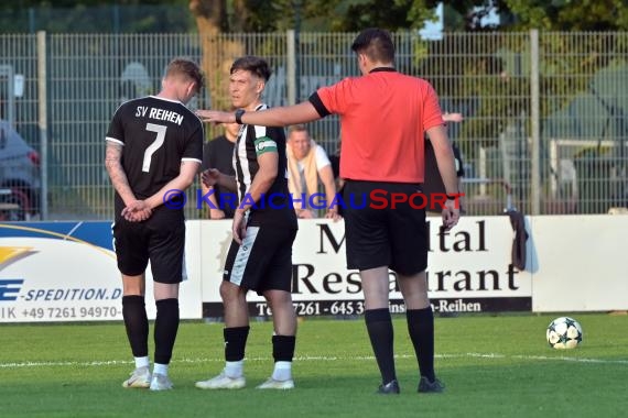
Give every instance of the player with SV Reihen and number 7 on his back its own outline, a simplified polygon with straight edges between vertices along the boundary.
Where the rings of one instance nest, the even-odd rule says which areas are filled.
[[[172,388],[167,367],[178,329],[178,284],[185,274],[185,219],[183,205],[167,198],[169,190],[192,184],[203,160],[203,123],[185,107],[202,87],[198,66],[174,59],[159,95],[122,103],[107,132],[105,164],[116,189],[112,229],[122,274],[122,316],[136,359],[123,387]],[[152,375],[144,306],[149,261],[156,305]]]

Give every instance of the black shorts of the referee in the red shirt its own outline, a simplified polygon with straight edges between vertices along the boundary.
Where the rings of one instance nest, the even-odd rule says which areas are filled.
[[[375,200],[373,190],[377,190]],[[419,184],[345,183],[348,268],[362,271],[388,266],[399,274],[413,275],[427,267],[425,209],[413,208],[408,201],[396,202],[392,208],[390,199],[391,194],[410,196],[416,193],[421,193]]]

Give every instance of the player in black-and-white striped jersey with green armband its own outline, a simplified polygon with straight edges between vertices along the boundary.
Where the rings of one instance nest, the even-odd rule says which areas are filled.
[[[270,77],[266,61],[245,56],[230,69],[231,103],[241,110],[267,109],[261,94]],[[197,382],[203,389],[245,387],[245,346],[249,334],[246,295],[263,295],[272,310],[274,334],[272,376],[261,389],[291,389],[296,315],[292,306],[292,243],[296,237],[296,215],[286,179],[285,134],[282,128],[245,124],[236,140],[236,176],[209,169],[203,176],[207,186],[218,184],[239,195],[234,215],[234,241],[225,263],[220,296],[225,306],[225,360],[223,372]]]

